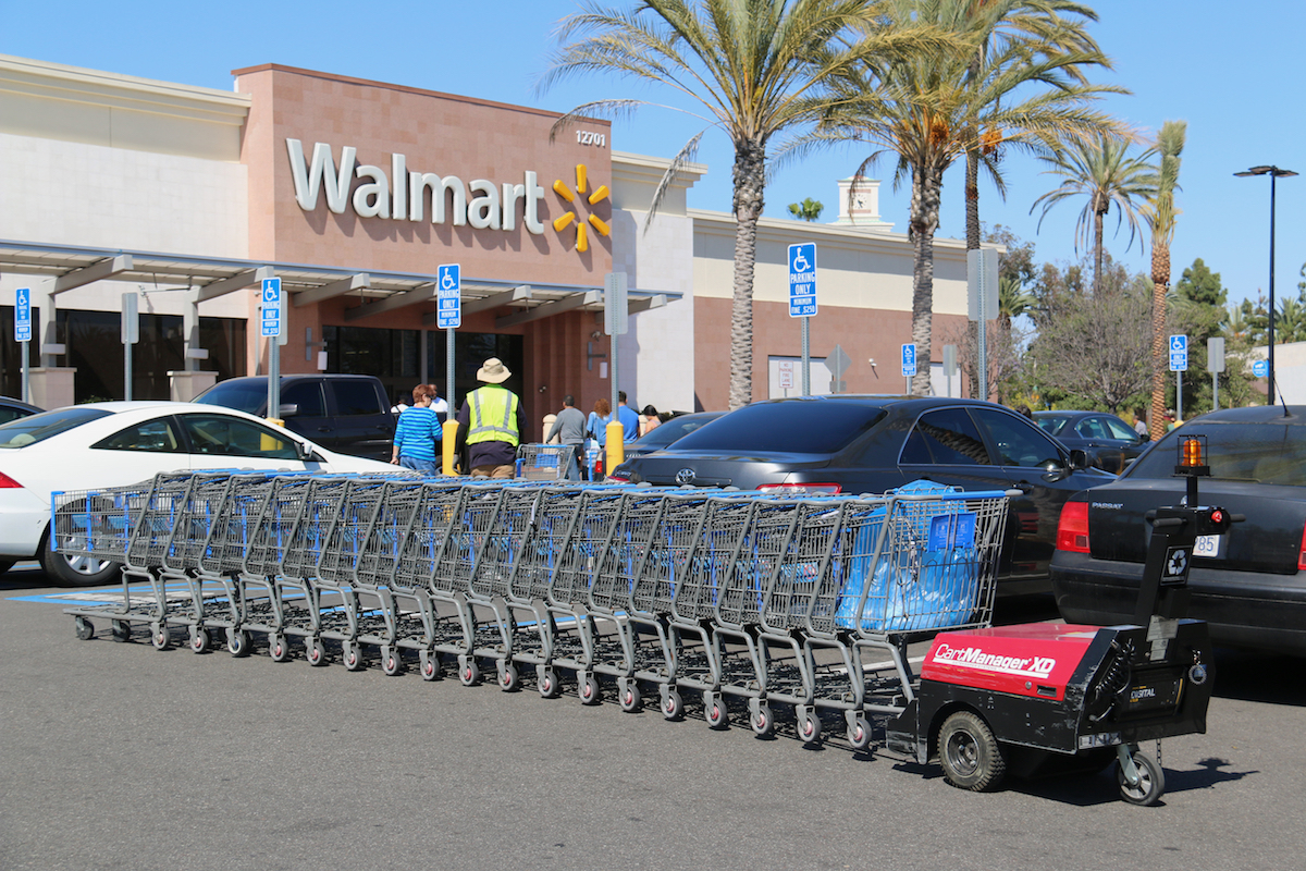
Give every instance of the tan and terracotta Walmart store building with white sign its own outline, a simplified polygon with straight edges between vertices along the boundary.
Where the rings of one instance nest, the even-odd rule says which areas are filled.
[[[619,387],[663,411],[726,407],[735,225],[686,205],[708,167],[684,168],[648,222],[670,161],[614,150],[606,121],[551,136],[558,115],[530,107],[276,64],[234,74],[229,93],[0,55],[5,396],[21,392],[20,287],[34,309],[33,401],[56,407],[124,396],[124,294],[140,312],[133,398],[185,400],[264,372],[268,277],[289,298],[283,373],[363,372],[392,394],[426,381],[445,394],[435,282],[460,264],[458,397],[488,356],[513,371],[530,420],[565,393],[584,410],[607,397],[602,289],[624,272]],[[829,392],[819,360],[835,346],[852,360],[849,392],[904,389],[912,247],[879,219],[874,184],[853,198],[837,184],[836,222],[759,226],[755,398],[799,392],[786,249],[806,242],[819,249],[812,392]],[[935,242],[934,274],[938,359],[965,319],[961,243]]]

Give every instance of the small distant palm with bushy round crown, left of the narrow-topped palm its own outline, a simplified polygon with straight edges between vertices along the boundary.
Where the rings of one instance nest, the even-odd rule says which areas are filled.
[[[1128,251],[1134,245],[1134,236],[1138,232],[1138,214],[1141,201],[1151,197],[1156,191],[1156,170],[1148,163],[1152,151],[1140,157],[1130,155],[1131,140],[1115,135],[1102,135],[1094,141],[1071,140],[1064,148],[1050,157],[1042,157],[1051,168],[1050,175],[1062,178],[1060,187],[1049,191],[1034,200],[1029,208],[1033,214],[1038,204],[1043,204],[1043,213],[1038,217],[1038,226],[1043,226],[1047,212],[1060,202],[1077,196],[1087,196],[1088,202],[1079,213],[1075,222],[1075,252],[1079,252],[1080,243],[1087,248],[1093,247],[1093,290],[1097,291],[1102,273],[1102,219],[1115,204],[1115,231],[1119,232],[1121,222],[1130,223]],[[1135,202],[1139,200],[1140,202]],[[1089,215],[1092,215],[1092,235],[1089,234]]]

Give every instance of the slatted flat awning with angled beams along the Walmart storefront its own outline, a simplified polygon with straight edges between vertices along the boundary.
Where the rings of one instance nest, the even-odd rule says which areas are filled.
[[[345,319],[360,321],[375,315],[417,306],[435,298],[434,274],[394,272],[351,272],[336,266],[311,266],[256,260],[225,260],[146,251],[112,251],[27,242],[0,240],[0,273],[43,276],[59,294],[95,281],[187,285],[199,291],[199,302],[247,287],[264,278],[279,277],[281,287],[294,306],[311,306],[333,296],[353,296],[357,306],[345,309]],[[660,308],[680,299],[669,291],[628,291],[631,313]],[[511,306],[517,311],[498,319],[508,328],[541,320],[564,311],[602,311],[601,286],[547,285],[530,281],[462,278],[462,312],[473,313]],[[423,323],[435,323],[426,312]]]

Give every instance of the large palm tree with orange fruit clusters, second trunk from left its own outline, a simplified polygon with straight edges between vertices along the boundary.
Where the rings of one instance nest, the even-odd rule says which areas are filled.
[[[816,144],[858,141],[876,150],[857,170],[885,153],[897,155],[893,183],[910,179],[912,205],[908,236],[914,245],[912,291],[912,341],[923,359],[931,356],[934,308],[934,234],[939,226],[943,172],[963,154],[978,148],[976,129],[982,120],[986,142],[1011,148],[1047,149],[1071,133],[1097,133],[1114,128],[1104,114],[1091,108],[1104,93],[1114,91],[1080,84],[1068,69],[1102,63],[1097,52],[1059,50],[1042,42],[1037,51],[1017,39],[995,40],[978,80],[969,77],[970,63],[993,18],[1010,10],[1013,0],[998,0],[991,13],[978,18],[965,14],[969,0],[885,0],[889,26],[929,24],[955,37],[929,54],[879,60],[857,76],[835,82],[842,98],[827,112],[820,127],[799,148]],[[1030,4],[1033,5],[1033,4]],[[980,24],[977,24],[980,22]],[[1046,90],[1023,87],[1041,84]],[[1023,87],[1020,97],[1015,97]],[[1003,103],[1003,98],[1010,102]],[[995,165],[995,162],[994,162]],[[998,176],[1000,189],[1000,176]],[[930,390],[930,372],[921,367],[912,381],[919,396]]]

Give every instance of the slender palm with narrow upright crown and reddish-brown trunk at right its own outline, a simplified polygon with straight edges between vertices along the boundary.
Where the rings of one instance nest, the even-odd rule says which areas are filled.
[[[1144,215],[1152,227],[1152,414],[1148,418],[1152,440],[1165,435],[1165,372],[1166,343],[1165,294],[1170,287],[1170,242],[1174,240],[1174,222],[1179,212],[1174,208],[1174,192],[1179,189],[1179,154],[1187,121],[1166,121],[1157,133],[1153,151],[1160,157],[1155,170],[1156,187]]]

